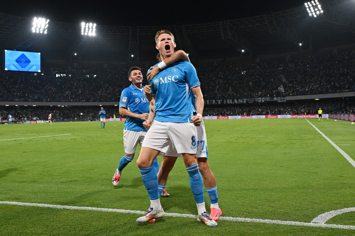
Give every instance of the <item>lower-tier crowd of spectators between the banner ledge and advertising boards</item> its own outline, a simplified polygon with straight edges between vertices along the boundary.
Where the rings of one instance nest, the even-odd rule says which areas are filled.
[[[317,114],[322,108],[324,114],[354,114],[355,104],[337,102],[318,102],[318,103],[285,103],[285,104],[258,104],[258,105],[237,105],[222,107],[205,107],[204,116],[233,116],[233,115],[302,115]],[[106,118],[123,118],[120,116],[118,108],[104,108]],[[48,115],[52,113],[54,121],[97,121],[99,120],[99,110],[94,108],[65,108],[61,110],[13,110],[0,111],[1,122],[7,122],[7,116],[12,115],[15,123],[31,120],[48,120]],[[142,121],[143,122],[143,121]]]

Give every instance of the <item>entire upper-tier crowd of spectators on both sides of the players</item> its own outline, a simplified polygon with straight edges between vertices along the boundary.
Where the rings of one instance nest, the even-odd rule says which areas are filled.
[[[89,70],[52,68],[54,78],[40,73],[4,71],[0,75],[0,99],[119,101],[122,90],[130,85],[128,70],[128,67]],[[148,65],[142,68],[143,74],[147,70]],[[196,70],[205,99],[294,96],[355,90],[355,51],[283,62],[205,65],[196,67]],[[147,81],[144,80],[144,83]],[[279,89],[280,86],[282,88]]]

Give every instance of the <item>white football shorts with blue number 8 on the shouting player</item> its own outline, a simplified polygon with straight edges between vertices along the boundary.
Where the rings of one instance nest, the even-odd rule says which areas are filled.
[[[154,120],[144,138],[142,147],[160,151],[165,156],[171,148],[176,153],[197,153],[197,134],[192,123],[160,122]]]

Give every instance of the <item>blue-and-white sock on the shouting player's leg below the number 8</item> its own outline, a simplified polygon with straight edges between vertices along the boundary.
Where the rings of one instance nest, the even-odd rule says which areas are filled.
[[[198,170],[198,164],[196,163],[192,166],[187,166],[186,170],[189,172],[190,187],[193,196],[195,197],[198,215],[201,215],[203,212],[206,212],[206,208],[204,207],[203,180],[201,173]]]

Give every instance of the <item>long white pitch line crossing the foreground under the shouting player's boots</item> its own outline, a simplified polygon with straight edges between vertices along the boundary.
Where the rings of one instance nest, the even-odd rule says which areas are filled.
[[[0,201],[0,204],[9,204],[9,205],[18,205],[18,206],[34,206],[34,207],[50,207],[50,208],[58,208],[58,209],[102,211],[102,212],[119,212],[119,213],[131,213],[131,214],[145,214],[146,213],[143,211],[132,211],[132,210],[122,210],[122,209],[112,209],[112,208],[76,207],[76,206],[49,205],[49,204],[39,204],[39,203],[25,203],[25,202]],[[165,216],[197,218],[197,215],[179,214],[179,213],[165,213]],[[251,219],[251,218],[223,217],[223,216],[219,217],[219,220],[266,223],[266,224],[299,225],[299,226],[312,226],[312,227],[322,227],[322,228],[337,228],[337,229],[353,229],[353,230],[355,230],[354,225],[319,224],[319,223],[306,223],[306,222],[298,222],[298,221],[265,220],[265,219]]]

